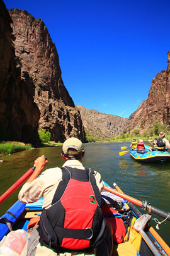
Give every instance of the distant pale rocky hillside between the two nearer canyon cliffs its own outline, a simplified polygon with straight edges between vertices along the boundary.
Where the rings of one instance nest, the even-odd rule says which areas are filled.
[[[94,109],[77,106],[81,113],[82,123],[86,134],[94,138],[109,139],[123,133],[128,119],[99,113]]]

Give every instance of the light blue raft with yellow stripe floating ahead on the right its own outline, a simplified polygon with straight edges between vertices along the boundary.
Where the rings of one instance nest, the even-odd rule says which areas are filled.
[[[130,155],[139,162],[165,162],[170,161],[169,152],[149,151],[149,146],[145,145],[145,153],[138,153],[137,150],[130,150]]]

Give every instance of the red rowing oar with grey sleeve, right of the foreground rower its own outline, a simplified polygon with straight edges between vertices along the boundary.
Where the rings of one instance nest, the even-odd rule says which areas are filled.
[[[164,210],[161,210],[154,206],[151,206],[145,200],[142,202],[138,199],[130,197],[129,195],[120,193],[117,190],[114,190],[113,188],[109,188],[108,186],[105,186],[105,190],[110,193],[113,193],[114,195],[118,195],[118,197],[122,197],[123,199],[128,200],[129,202],[132,202],[133,204],[139,205],[143,210],[147,210],[149,212],[149,214],[152,212],[153,214],[156,214],[157,216],[167,219],[167,221],[170,221],[170,214],[168,212],[164,212]]]

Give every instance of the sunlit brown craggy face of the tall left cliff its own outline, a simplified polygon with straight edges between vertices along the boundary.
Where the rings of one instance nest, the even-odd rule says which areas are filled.
[[[10,9],[15,54],[21,78],[34,88],[34,102],[40,111],[38,128],[50,131],[52,140],[77,137],[84,142],[81,116],[61,78],[59,56],[47,27],[26,11]]]

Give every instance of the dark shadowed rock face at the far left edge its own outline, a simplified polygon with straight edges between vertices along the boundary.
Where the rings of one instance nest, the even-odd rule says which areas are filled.
[[[11,39],[12,22],[0,1],[0,140],[37,143],[40,112],[33,101],[34,88],[20,78]]]

